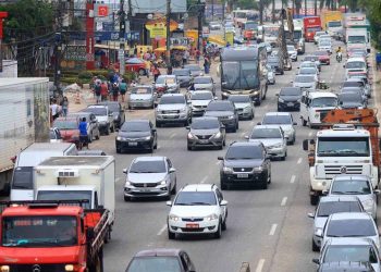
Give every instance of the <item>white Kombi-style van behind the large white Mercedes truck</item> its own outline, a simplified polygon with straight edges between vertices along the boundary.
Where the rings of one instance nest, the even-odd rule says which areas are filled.
[[[325,114],[337,107],[337,96],[329,91],[306,90],[300,99],[302,125],[315,127]]]

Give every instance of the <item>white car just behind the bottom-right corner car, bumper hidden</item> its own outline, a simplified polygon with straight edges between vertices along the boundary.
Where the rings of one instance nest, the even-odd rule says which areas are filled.
[[[322,233],[322,243],[331,239],[332,242],[345,237],[370,238],[380,249],[380,237],[376,222],[371,215],[366,212],[337,212],[331,214],[325,223]]]

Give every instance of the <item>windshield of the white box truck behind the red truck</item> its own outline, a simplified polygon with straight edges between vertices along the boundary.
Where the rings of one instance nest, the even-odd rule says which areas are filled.
[[[39,190],[37,200],[88,200],[84,205],[85,209],[90,209],[91,191],[90,190]]]

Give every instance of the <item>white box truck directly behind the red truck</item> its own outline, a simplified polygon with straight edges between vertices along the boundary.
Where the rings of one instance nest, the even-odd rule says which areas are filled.
[[[34,177],[35,199],[41,199],[42,195],[45,200],[78,197],[89,199],[91,207],[103,206],[110,211],[111,233],[115,212],[115,160],[112,156],[51,157],[35,166]]]

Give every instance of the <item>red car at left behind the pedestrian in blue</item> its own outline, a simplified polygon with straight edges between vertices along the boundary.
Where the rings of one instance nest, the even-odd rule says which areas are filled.
[[[76,118],[58,118],[53,127],[60,129],[62,140],[65,143],[79,144],[79,122]]]

